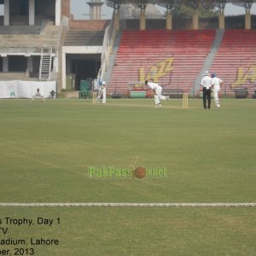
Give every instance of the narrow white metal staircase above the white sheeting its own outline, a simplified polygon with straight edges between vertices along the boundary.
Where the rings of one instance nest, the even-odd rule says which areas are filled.
[[[39,81],[48,81],[52,63],[52,48],[41,50]]]

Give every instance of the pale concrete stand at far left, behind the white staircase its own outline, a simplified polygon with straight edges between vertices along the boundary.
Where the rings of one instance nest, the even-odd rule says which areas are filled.
[[[49,20],[41,26],[0,26],[0,54],[9,55],[9,71],[0,72],[0,80],[38,80],[42,48],[58,48],[60,28]],[[27,71],[26,56],[32,56],[34,73]],[[18,68],[18,70],[14,70]]]

